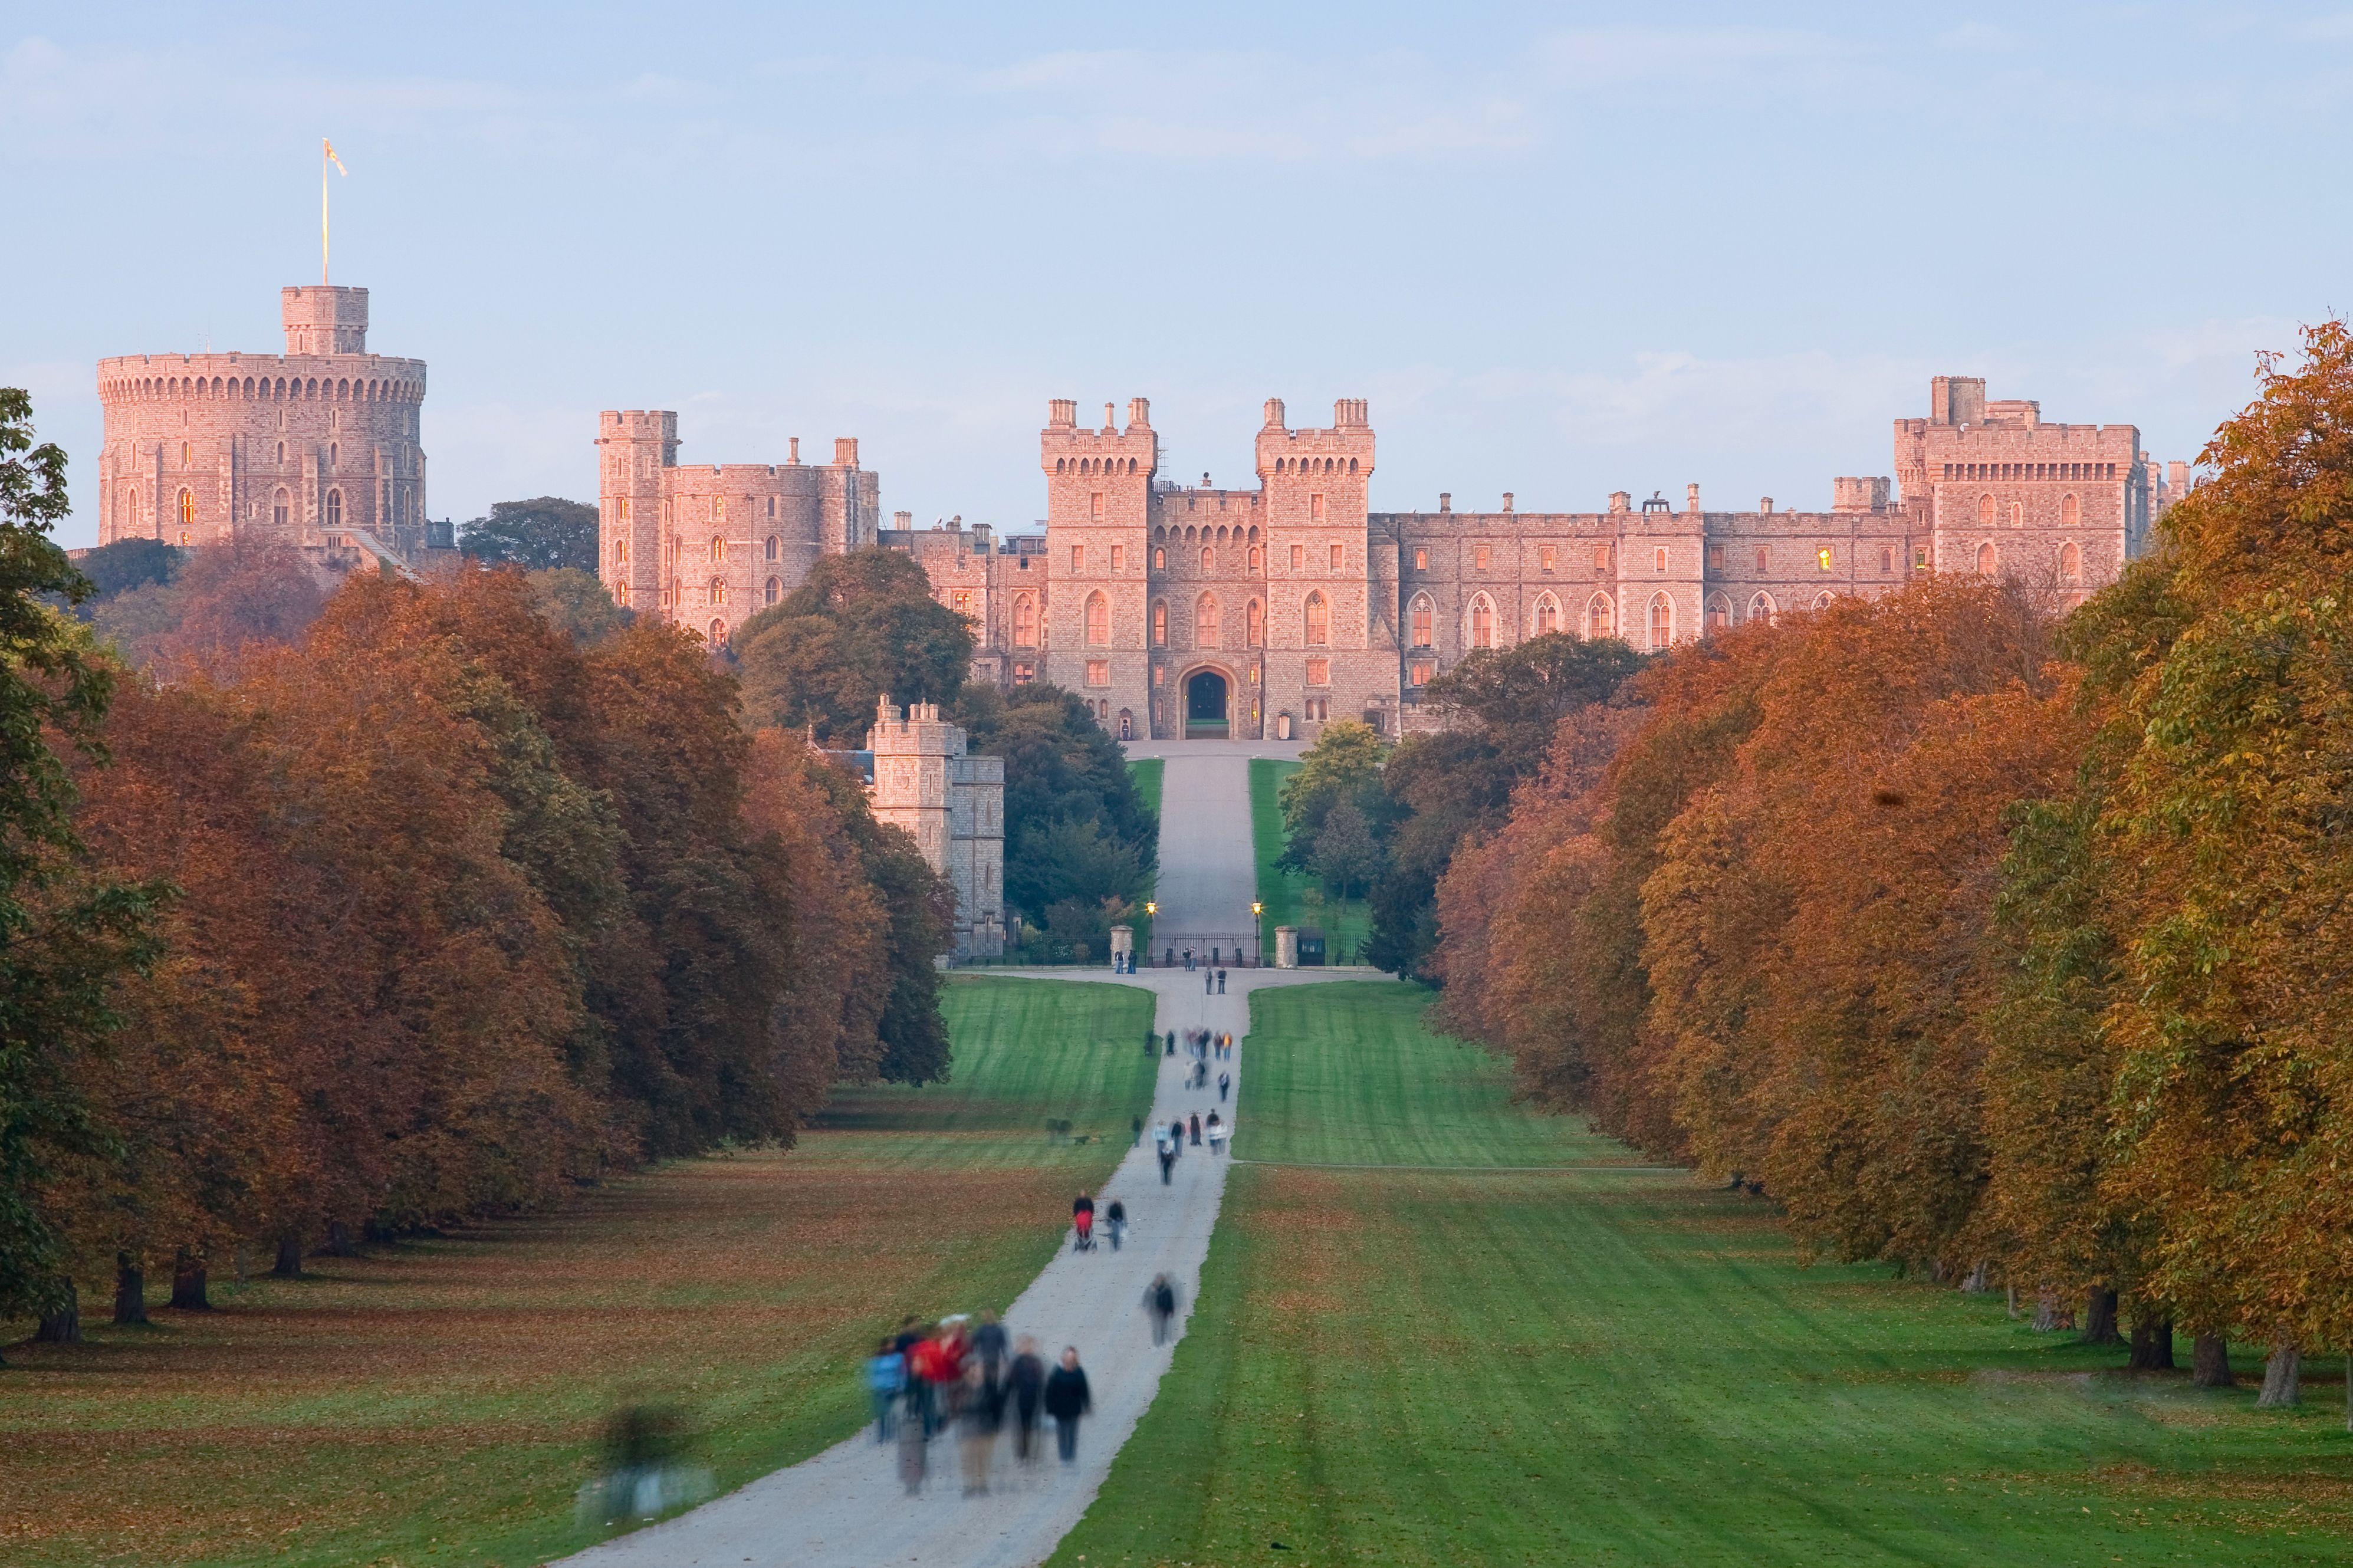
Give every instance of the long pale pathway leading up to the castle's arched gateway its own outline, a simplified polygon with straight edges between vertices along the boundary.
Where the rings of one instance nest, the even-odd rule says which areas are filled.
[[[1169,749],[1160,786],[1160,923],[1169,930],[1249,930],[1254,855],[1249,848],[1249,751],[1242,746]],[[1181,928],[1176,923],[1184,923]],[[1019,975],[1021,970],[1009,970]],[[1188,1029],[1233,1034],[1249,1029],[1249,994],[1261,986],[1344,979],[1346,972],[1228,970],[1226,994],[1209,994],[1200,972],[1035,970],[1045,979],[1134,984],[1158,996],[1155,1026],[1184,1038]],[[1134,1043],[1141,1050],[1141,1041]],[[1195,1111],[1207,1116],[1217,1099],[1219,1069],[1242,1078],[1247,1045],[1228,1064],[1212,1062],[1209,1088],[1188,1090],[1193,1059],[1160,1057],[1153,1121],[1167,1125]],[[1240,1092],[1235,1090],[1235,1097]],[[1235,1114],[1228,1099],[1226,1118]],[[1080,1424],[1080,1457],[1052,1457],[1052,1436],[1040,1434],[1045,1455],[1024,1469],[1012,1462],[1012,1439],[1000,1436],[991,1488],[984,1497],[960,1495],[955,1443],[932,1446],[932,1479],[920,1495],[899,1483],[896,1453],[873,1441],[873,1429],[835,1443],[814,1460],[779,1469],[751,1486],[706,1502],[659,1526],[581,1552],[569,1563],[586,1568],[652,1568],[656,1563],[713,1568],[1026,1568],[1087,1511],[1111,1460],[1153,1403],[1160,1375],[1174,1354],[1153,1344],[1144,1311],[1144,1288],[1155,1274],[1176,1281],[1181,1314],[1191,1316],[1193,1290],[1209,1231],[1226,1191],[1228,1156],[1186,1147],[1174,1182],[1160,1184],[1153,1144],[1129,1149],[1111,1182],[1096,1194],[1106,1205],[1127,1205],[1129,1234],[1120,1253],[1064,1248],[1054,1262],[1005,1311],[1005,1328],[1035,1335],[1047,1361],[1075,1344],[1094,1396],[1094,1413]],[[1184,1321],[1179,1318],[1179,1323]],[[854,1377],[856,1368],[842,1368]]]

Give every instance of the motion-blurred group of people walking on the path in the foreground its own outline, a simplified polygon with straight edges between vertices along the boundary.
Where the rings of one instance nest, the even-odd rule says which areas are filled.
[[[1066,1344],[1061,1366],[1047,1370],[1038,1342],[1009,1340],[995,1314],[974,1323],[965,1314],[925,1330],[906,1318],[899,1333],[875,1347],[866,1363],[873,1394],[875,1443],[899,1446],[899,1481],[906,1495],[922,1490],[932,1467],[932,1439],[953,1431],[965,1495],[988,1490],[998,1434],[1012,1424],[1014,1460],[1035,1464],[1038,1417],[1054,1422],[1061,1462],[1078,1460],[1078,1422],[1092,1408],[1078,1347]]]

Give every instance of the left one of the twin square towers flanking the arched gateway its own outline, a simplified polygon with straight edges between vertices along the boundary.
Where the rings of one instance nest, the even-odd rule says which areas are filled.
[[[1056,683],[1087,699],[1113,735],[1144,735],[1151,713],[1146,551],[1160,438],[1151,403],[1127,403],[1127,428],[1104,405],[1104,428],[1078,426],[1078,403],[1054,398],[1038,438],[1052,539],[1047,636]]]

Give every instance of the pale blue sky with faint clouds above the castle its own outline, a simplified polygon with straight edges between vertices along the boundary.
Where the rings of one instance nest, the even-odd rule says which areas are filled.
[[[87,504],[99,356],[278,348],[329,134],[435,516],[675,407],[1024,525],[1136,393],[1174,478],[1362,396],[1384,509],[1826,506],[1939,372],[2195,454],[2353,301],[2348,99],[2346,5],[0,0],[0,381]]]

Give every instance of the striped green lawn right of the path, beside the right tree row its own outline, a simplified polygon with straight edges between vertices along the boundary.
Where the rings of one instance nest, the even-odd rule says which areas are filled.
[[[1235,1156],[1492,1168],[1238,1165],[1056,1566],[2353,1561],[2334,1361],[2257,1413],[2000,1297],[1798,1267],[1765,1203],[1511,1107],[1424,1001],[1254,996]]]

